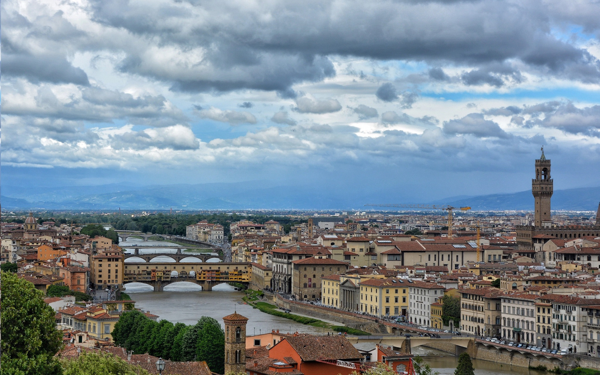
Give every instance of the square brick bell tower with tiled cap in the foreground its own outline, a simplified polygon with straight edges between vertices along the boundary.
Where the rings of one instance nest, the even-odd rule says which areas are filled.
[[[238,313],[227,315],[225,322],[225,373],[246,372],[246,323]]]

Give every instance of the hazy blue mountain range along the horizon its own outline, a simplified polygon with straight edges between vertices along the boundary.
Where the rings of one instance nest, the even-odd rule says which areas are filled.
[[[410,203],[397,190],[317,188],[308,185],[262,187],[262,181],[215,184],[127,184],[68,187],[2,186],[7,209],[361,209],[365,203]],[[556,190],[552,209],[596,211],[600,187]],[[424,203],[424,202],[418,202]],[[431,203],[474,210],[531,210],[531,191],[484,196],[455,196]]]

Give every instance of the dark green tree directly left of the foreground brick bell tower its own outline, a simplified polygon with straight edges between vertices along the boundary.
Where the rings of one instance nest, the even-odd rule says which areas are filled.
[[[200,331],[197,343],[196,358],[198,361],[206,361],[213,373],[222,374],[225,371],[225,333],[217,320],[206,318]]]

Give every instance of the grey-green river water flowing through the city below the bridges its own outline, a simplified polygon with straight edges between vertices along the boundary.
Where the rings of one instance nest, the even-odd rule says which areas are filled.
[[[121,242],[121,245],[138,244],[141,240],[130,239]],[[164,245],[164,241],[147,241],[143,245],[153,243]],[[173,250],[179,245],[172,244]],[[151,250],[153,251],[153,250]],[[164,248],[161,248],[161,252]],[[203,292],[202,288],[194,283],[176,283],[164,287],[163,292],[153,292],[152,287],[146,284],[127,284],[125,292],[136,301],[136,307],[143,311],[150,311],[158,315],[160,319],[170,322],[182,322],[194,324],[201,316],[210,316],[217,319],[223,326],[223,317],[237,311],[248,318],[248,335],[271,332],[279,329],[281,332],[301,332],[308,334],[327,334],[326,330],[309,325],[296,323],[293,320],[284,319],[260,312],[250,305],[239,304],[244,296],[243,292],[236,291],[232,286],[220,284],[215,286],[211,292]],[[362,343],[356,345],[358,349],[369,350],[374,347],[373,343]],[[426,347],[416,347],[413,353],[421,355],[425,362],[440,373],[440,375],[452,375],[458,364],[458,358],[439,350]],[[473,360],[475,375],[546,375],[546,373],[529,370],[524,367],[511,367],[507,364],[497,362]]]

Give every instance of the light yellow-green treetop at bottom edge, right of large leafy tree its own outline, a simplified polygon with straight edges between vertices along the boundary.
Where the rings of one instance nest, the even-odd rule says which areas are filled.
[[[76,359],[61,362],[64,375],[149,375],[143,368],[130,365],[119,357],[102,352],[83,351]]]

